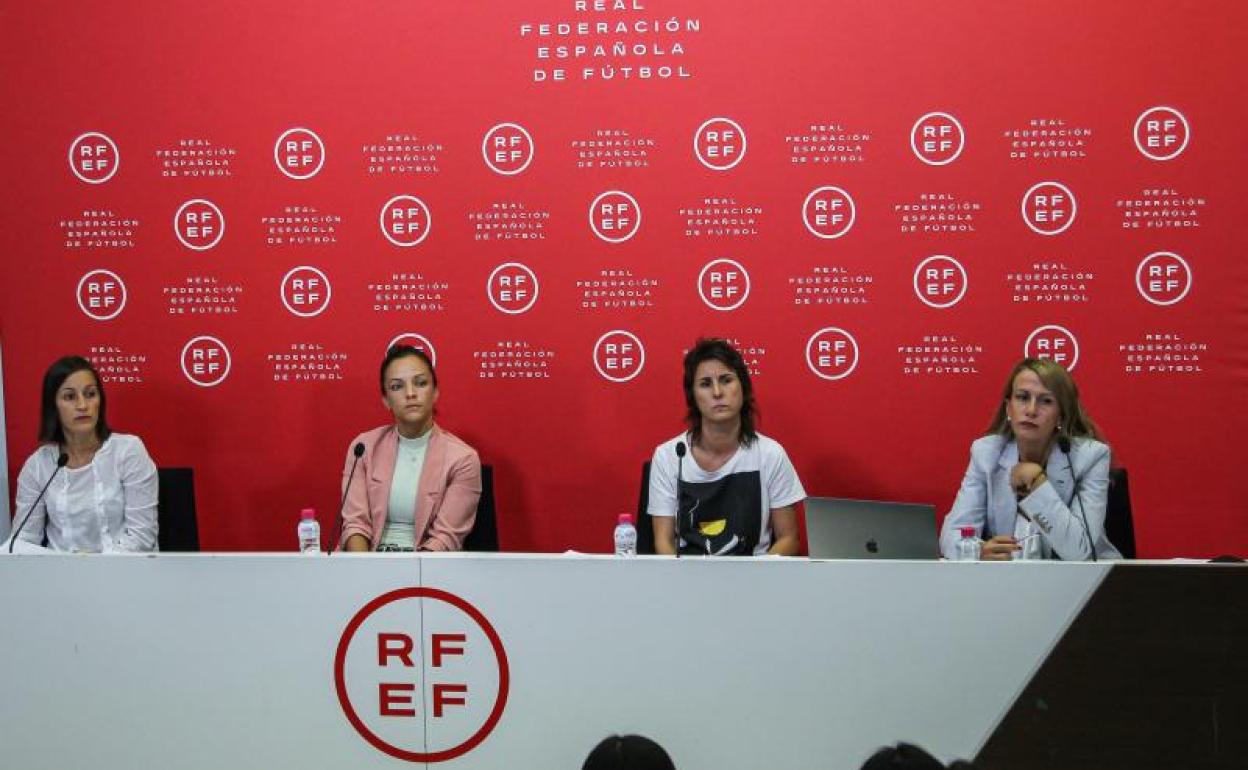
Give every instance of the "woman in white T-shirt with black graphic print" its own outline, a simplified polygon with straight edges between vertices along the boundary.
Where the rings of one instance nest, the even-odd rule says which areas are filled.
[[[650,462],[649,514],[661,554],[797,554],[806,497],[784,447],[755,429],[745,361],[724,339],[699,339],[684,361],[689,431]]]

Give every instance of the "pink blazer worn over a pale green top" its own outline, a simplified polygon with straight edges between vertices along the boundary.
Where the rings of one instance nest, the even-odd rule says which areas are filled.
[[[381,542],[389,508],[389,485],[394,478],[394,461],[398,457],[398,431],[394,426],[374,428],[361,433],[347,448],[347,463],[342,467],[342,485],[346,488],[352,453],[356,443],[363,442],[364,454],[356,468],[356,480],[351,484],[342,513],[342,539],[362,534],[373,550]],[[416,545],[418,550],[459,550],[464,537],[472,532],[477,519],[477,500],[480,499],[480,459],[477,451],[451,433],[433,426],[429,447],[424,453],[424,468],[416,488]]]

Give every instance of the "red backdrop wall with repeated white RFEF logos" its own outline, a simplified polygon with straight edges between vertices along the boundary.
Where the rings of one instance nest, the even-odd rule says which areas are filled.
[[[84,352],[115,427],[195,467],[206,549],[293,548],[300,508],[331,519],[351,437],[387,421],[386,344],[418,333],[439,422],[497,468],[503,547],[605,550],[680,428],[683,351],[718,334],[748,351],[809,493],[943,513],[1032,338],[1077,346],[1141,555],[1248,550],[1238,4],[47,14],[0,25],[10,478],[42,369]],[[499,130],[518,155],[495,171],[500,124],[527,139]],[[278,142],[291,129],[323,150]],[[592,228],[608,191],[640,208],[631,235],[631,207]],[[386,207],[398,231],[396,196],[419,200]],[[494,276],[495,306],[504,263],[528,272]],[[713,308],[741,270],[744,302]],[[532,306],[502,295],[534,278]],[[829,327],[847,336],[812,339]],[[640,351],[599,351],[623,382],[595,368],[617,329],[644,348],[639,371]],[[198,337],[227,373],[203,341],[186,363],[220,368],[183,373]]]

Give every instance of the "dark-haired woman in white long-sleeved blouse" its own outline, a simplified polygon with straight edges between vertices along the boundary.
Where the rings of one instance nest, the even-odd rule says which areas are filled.
[[[44,374],[41,446],[17,474],[19,539],[52,550],[156,550],[156,464],[137,436],[114,433],[104,383],[86,358],[66,356]],[[40,489],[69,462],[31,509]]]

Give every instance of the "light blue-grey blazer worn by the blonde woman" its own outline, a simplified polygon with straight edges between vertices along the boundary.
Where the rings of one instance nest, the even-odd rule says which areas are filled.
[[[1010,488],[1010,472],[1017,463],[1018,444],[1005,436],[985,436],[971,444],[971,463],[962,488],[941,528],[940,545],[946,558],[955,557],[962,527],[975,527],[983,539],[1012,535],[1018,508],[1040,528],[1042,550],[1050,558],[1091,559],[1092,543],[1098,559],[1122,558],[1104,537],[1109,447],[1091,438],[1076,438],[1067,454],[1055,446],[1045,469],[1048,479],[1021,502]],[[1092,533],[1091,543],[1083,517]]]

